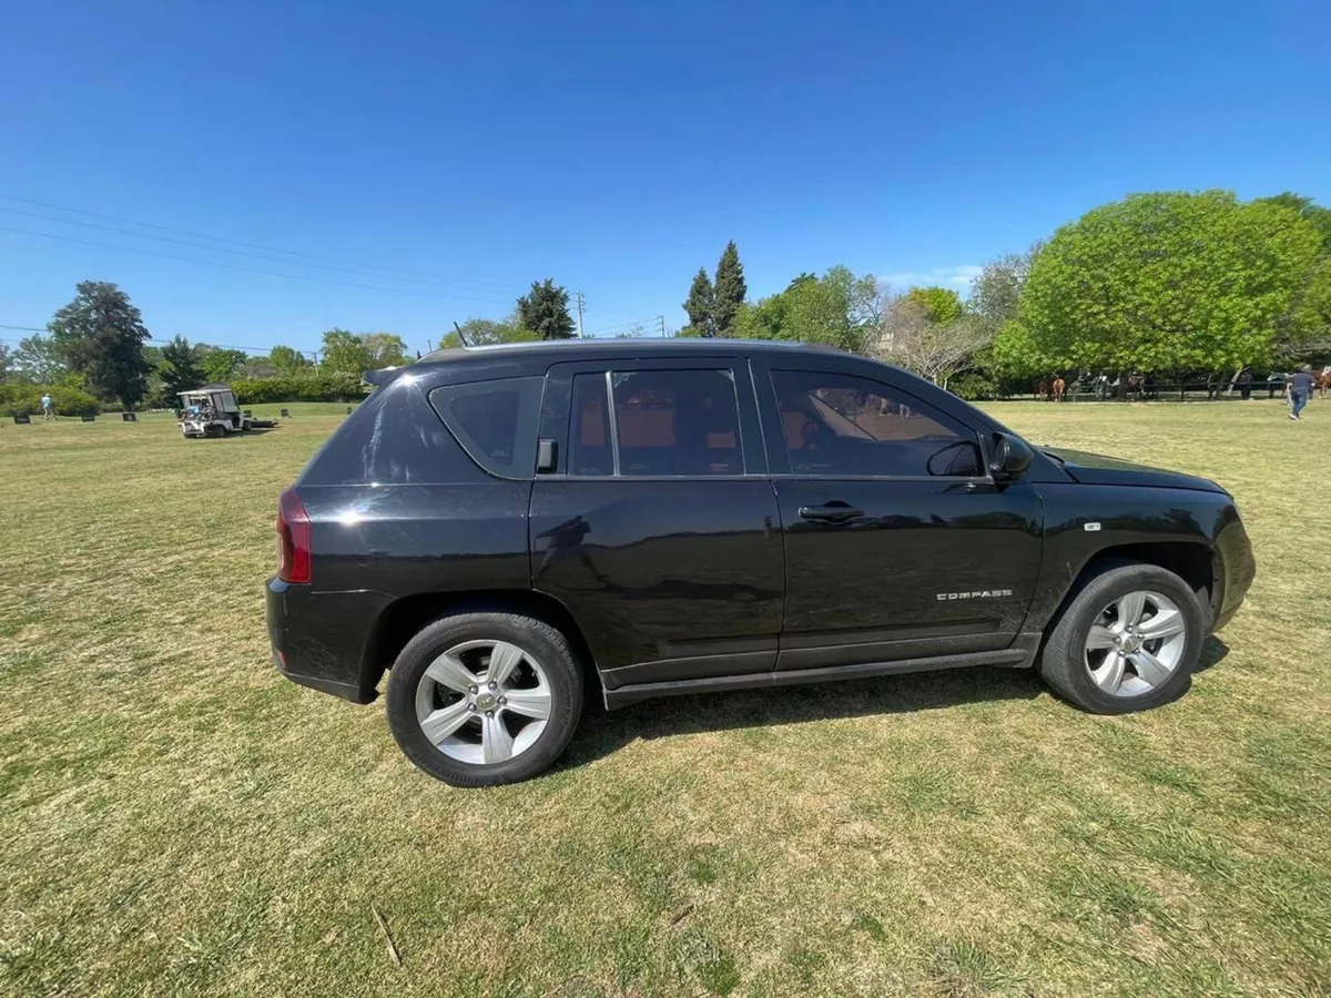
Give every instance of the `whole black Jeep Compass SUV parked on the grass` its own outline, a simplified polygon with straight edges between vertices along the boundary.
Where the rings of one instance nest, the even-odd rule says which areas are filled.
[[[548,766],[607,708],[961,665],[1179,696],[1252,580],[1231,496],[1028,444],[905,371],[751,341],[443,350],[282,494],[278,668],[431,776]]]

